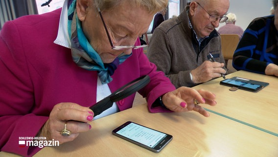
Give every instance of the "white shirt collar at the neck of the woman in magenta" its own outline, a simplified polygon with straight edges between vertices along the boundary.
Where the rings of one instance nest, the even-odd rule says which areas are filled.
[[[59,29],[55,44],[70,48],[70,36],[68,33],[68,0],[65,0],[60,16]]]

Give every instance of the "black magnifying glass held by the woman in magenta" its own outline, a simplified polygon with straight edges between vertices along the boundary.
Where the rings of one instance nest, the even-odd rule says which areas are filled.
[[[141,88],[146,86],[150,82],[150,77],[148,75],[142,76],[140,78],[136,78],[133,81],[125,84],[118,90],[116,90],[111,95],[97,102],[95,105],[91,106],[90,109],[93,110],[93,117],[99,115],[106,109],[112,107],[114,102],[120,101],[131,94],[139,91]]]

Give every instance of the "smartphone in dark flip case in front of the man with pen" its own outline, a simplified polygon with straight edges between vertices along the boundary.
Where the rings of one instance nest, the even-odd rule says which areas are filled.
[[[257,92],[262,88],[264,88],[265,86],[267,86],[269,83],[251,80],[247,78],[233,77],[233,78],[227,78],[220,81],[220,84],[231,86],[231,87],[237,87],[239,89],[248,90],[252,92]]]

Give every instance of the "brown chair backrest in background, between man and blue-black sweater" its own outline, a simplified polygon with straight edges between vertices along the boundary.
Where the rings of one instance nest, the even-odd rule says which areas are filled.
[[[220,34],[220,36],[224,59],[232,59],[232,55],[239,42],[239,36],[237,34]]]

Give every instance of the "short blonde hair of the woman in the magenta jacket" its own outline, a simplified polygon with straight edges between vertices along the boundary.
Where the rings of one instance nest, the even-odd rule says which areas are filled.
[[[168,5],[168,0],[94,0],[94,5],[100,10],[111,10],[123,2],[128,2],[131,7],[142,7],[153,14]]]

